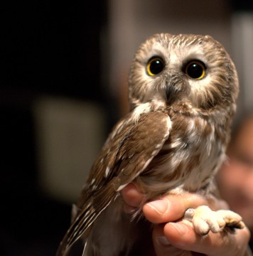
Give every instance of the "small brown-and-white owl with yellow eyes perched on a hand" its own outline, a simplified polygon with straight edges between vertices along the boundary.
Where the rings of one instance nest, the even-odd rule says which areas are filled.
[[[122,210],[120,191],[131,182],[144,193],[143,203],[166,193],[213,193],[237,93],[235,65],[212,37],[161,33],[141,44],[129,74],[131,112],[92,166],[58,256],[77,240],[84,241],[82,255],[131,255],[145,222],[141,206],[135,218]],[[220,213],[223,224],[212,213],[200,206],[185,214],[203,235],[231,224],[232,212]],[[233,224],[243,227],[240,217]]]

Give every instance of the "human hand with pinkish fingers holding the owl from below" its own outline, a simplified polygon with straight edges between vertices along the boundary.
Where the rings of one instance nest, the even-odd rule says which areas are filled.
[[[141,205],[143,195],[133,183],[122,190],[126,212]],[[235,234],[223,230],[220,233],[208,233],[201,236],[193,227],[186,225],[181,218],[188,208],[206,205],[217,210],[225,203],[215,198],[203,198],[195,193],[166,195],[161,199],[146,203],[143,207],[145,217],[154,223],[153,243],[157,256],[208,255],[208,256],[244,256],[249,242],[249,230],[236,230]]]

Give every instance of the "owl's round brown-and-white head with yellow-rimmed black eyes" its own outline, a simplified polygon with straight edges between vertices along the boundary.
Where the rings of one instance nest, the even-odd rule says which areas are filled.
[[[141,44],[129,75],[129,100],[135,107],[159,100],[202,110],[235,103],[235,65],[210,36],[156,34]]]

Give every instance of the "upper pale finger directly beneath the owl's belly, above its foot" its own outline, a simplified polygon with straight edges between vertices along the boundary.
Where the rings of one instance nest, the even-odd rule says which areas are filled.
[[[166,223],[183,218],[185,210],[208,205],[208,201],[198,194],[168,194],[161,199],[146,203],[143,212],[152,223]]]

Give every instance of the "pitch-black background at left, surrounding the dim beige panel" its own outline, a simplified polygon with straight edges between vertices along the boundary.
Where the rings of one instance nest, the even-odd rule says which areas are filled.
[[[0,255],[55,255],[71,205],[39,186],[34,105],[44,95],[105,104],[107,3],[11,0],[0,11]]]

